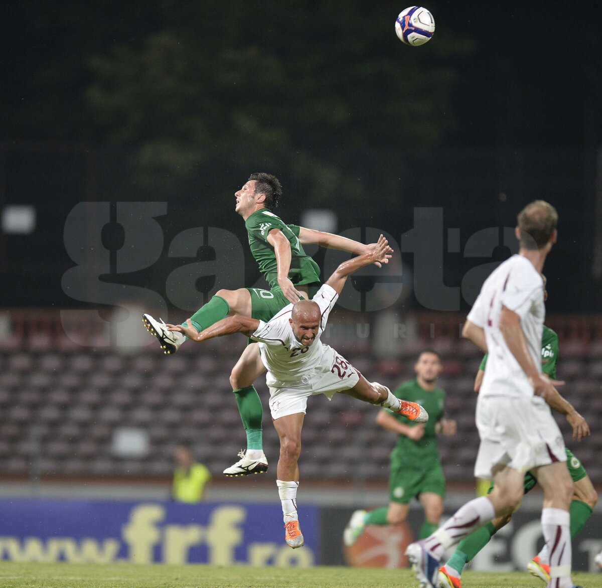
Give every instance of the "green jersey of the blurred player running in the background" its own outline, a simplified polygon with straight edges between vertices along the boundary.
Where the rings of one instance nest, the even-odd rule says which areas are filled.
[[[409,462],[420,464],[420,467],[425,465],[427,460],[439,461],[439,450],[437,448],[437,440],[435,435],[435,426],[443,418],[445,392],[441,388],[433,390],[425,390],[418,384],[418,380],[414,379],[410,382],[403,383],[397,388],[393,394],[397,398],[417,402],[426,409],[429,413],[429,420],[424,425],[424,435],[418,441],[408,439],[405,435],[399,435],[397,445],[391,454],[391,461]],[[390,413],[389,413],[390,414]],[[415,427],[416,423],[409,421],[403,415],[393,415],[398,421],[406,425]]]

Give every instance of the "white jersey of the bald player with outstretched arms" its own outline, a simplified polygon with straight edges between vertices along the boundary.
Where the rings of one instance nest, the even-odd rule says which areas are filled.
[[[303,374],[320,364],[324,349],[327,348],[320,341],[320,336],[337,299],[335,289],[326,284],[312,298],[320,306],[321,318],[317,335],[309,346],[297,341],[288,322],[293,311],[292,304],[285,306],[267,323],[259,321],[259,327],[251,338],[259,341],[261,361],[268,371],[265,381],[270,388],[294,388],[306,383],[307,379]]]

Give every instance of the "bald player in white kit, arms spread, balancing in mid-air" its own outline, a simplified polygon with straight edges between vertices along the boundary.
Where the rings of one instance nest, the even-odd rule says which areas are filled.
[[[365,265],[386,263],[389,252],[388,242],[380,235],[373,252],[339,265],[312,300],[300,300],[295,305],[286,306],[267,323],[232,316],[200,333],[188,327],[168,325],[170,330],[178,330],[193,341],[243,333],[259,342],[259,345],[249,345],[244,353],[254,357],[257,365],[263,365],[264,371],[268,372],[270,410],[280,438],[276,484],[282,503],[285,541],[293,549],[303,545],[297,515],[297,462],[309,396],[324,394],[330,399],[335,392],[341,392],[403,414],[415,422],[426,422],[429,418],[420,404],[399,400],[386,386],[368,382],[343,356],[320,341],[347,276]]]

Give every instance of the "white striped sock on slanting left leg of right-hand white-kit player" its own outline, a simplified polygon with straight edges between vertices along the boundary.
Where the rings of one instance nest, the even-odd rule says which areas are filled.
[[[452,518],[448,519],[428,539],[425,539],[424,546],[433,556],[441,559],[445,549],[455,545],[494,517],[494,507],[487,497],[474,498],[462,506]]]

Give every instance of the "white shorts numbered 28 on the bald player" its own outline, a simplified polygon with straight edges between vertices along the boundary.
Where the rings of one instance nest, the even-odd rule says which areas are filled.
[[[270,412],[274,420],[299,412],[305,414],[309,396],[324,394],[332,400],[335,392],[349,390],[359,382],[358,370],[332,347],[324,347],[320,363],[304,374],[300,382],[270,387]]]

